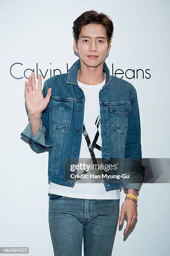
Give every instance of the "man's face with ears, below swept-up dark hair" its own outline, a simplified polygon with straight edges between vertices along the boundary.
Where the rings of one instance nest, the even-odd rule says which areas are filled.
[[[110,45],[108,47],[107,43],[105,27],[99,24],[83,26],[80,31],[77,46],[74,40],[74,49],[79,53],[80,59],[88,67],[99,66],[105,60],[105,56],[110,49]]]

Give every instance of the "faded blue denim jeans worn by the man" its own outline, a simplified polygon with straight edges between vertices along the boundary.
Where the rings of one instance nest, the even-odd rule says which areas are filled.
[[[55,256],[111,256],[120,199],[49,195],[49,226]]]

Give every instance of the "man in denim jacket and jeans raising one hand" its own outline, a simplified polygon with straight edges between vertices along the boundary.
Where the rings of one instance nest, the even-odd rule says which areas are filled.
[[[82,238],[85,256],[111,256],[122,184],[129,194],[120,212],[119,224],[127,215],[124,235],[138,215],[139,183],[125,184],[112,177],[86,183],[66,170],[66,159],[118,159],[122,174],[124,156],[141,158],[136,90],[111,76],[104,61],[112,32],[107,15],[82,13],[73,26],[74,50],[80,59],[68,73],[47,79],[43,89],[40,75],[36,89],[34,72],[25,82],[30,122],[21,136],[35,151],[49,147],[49,225],[55,256],[81,255]]]

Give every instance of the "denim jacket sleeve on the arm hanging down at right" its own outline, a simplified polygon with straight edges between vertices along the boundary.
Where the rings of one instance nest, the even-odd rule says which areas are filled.
[[[132,111],[129,114],[128,131],[125,144],[124,174],[130,174],[130,180],[123,179],[125,189],[140,189],[141,178],[143,180],[142,151],[141,151],[141,131],[140,131],[140,113],[138,106],[137,92],[134,90],[131,99]],[[142,174],[142,176],[141,176]],[[128,183],[131,182],[131,183]],[[139,182],[139,183],[136,183]]]

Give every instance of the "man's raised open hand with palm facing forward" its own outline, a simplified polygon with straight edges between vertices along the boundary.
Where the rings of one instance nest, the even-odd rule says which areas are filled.
[[[35,74],[31,72],[28,82],[25,82],[25,102],[31,116],[37,116],[42,113],[50,101],[51,88],[47,90],[47,95],[44,98],[42,95],[42,77],[38,75],[38,84],[36,89]]]

